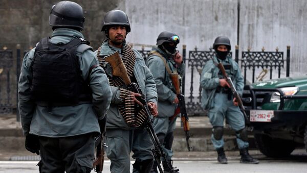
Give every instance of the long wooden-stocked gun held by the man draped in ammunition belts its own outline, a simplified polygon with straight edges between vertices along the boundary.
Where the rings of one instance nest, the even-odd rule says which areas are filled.
[[[157,162],[160,173],[163,173],[162,167],[159,164],[159,163],[161,163],[160,158],[163,157],[164,160],[167,160],[167,159],[166,159],[165,152],[163,151],[162,146],[159,142],[157,134],[156,134],[155,130],[153,130],[153,127],[152,127],[152,124],[151,124],[151,121],[150,121],[151,113],[150,113],[150,110],[148,108],[147,102],[145,100],[145,95],[142,93],[141,89],[139,88],[139,86],[136,83],[134,83],[134,82],[131,83],[130,78],[127,74],[127,69],[126,69],[122,59],[120,58],[118,52],[115,52],[111,55],[108,55],[104,59],[105,59],[106,62],[108,62],[112,66],[112,75],[113,76],[121,77],[129,91],[141,94],[141,96],[137,97],[137,99],[138,99],[138,101],[141,102],[142,107],[145,109],[145,112],[148,115],[148,117],[146,118],[146,120],[144,122],[144,126],[145,126],[145,129],[147,130],[147,132],[148,132],[148,134],[149,134],[149,136],[152,140],[152,143],[154,145],[154,147],[151,149],[151,152],[152,152],[153,156],[155,157],[155,160]],[[168,167],[168,169],[170,170],[171,173],[179,172],[179,169],[172,169],[172,166],[168,162],[167,162],[167,167]]]

